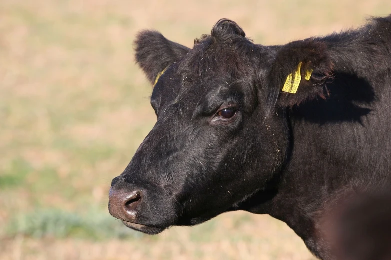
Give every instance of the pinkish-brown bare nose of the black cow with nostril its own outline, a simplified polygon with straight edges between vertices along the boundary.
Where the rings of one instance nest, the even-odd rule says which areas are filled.
[[[124,190],[116,190],[111,188],[109,193],[109,211],[114,217],[125,220],[134,221],[137,206],[142,199],[142,193],[139,190],[126,192]]]

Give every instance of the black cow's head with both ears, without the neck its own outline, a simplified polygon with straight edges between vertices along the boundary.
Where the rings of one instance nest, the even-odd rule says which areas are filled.
[[[153,84],[157,122],[123,173],[114,178],[110,213],[156,234],[240,209],[273,188],[289,142],[285,108],[327,94],[326,45],[315,39],[256,45],[233,21],[189,49],[143,31],[136,60]],[[290,73],[313,71],[297,93],[280,94]]]

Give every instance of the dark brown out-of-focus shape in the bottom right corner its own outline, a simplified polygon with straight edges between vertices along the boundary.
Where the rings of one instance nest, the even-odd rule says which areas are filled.
[[[391,196],[358,197],[337,221],[335,252],[341,260],[391,259]]]

